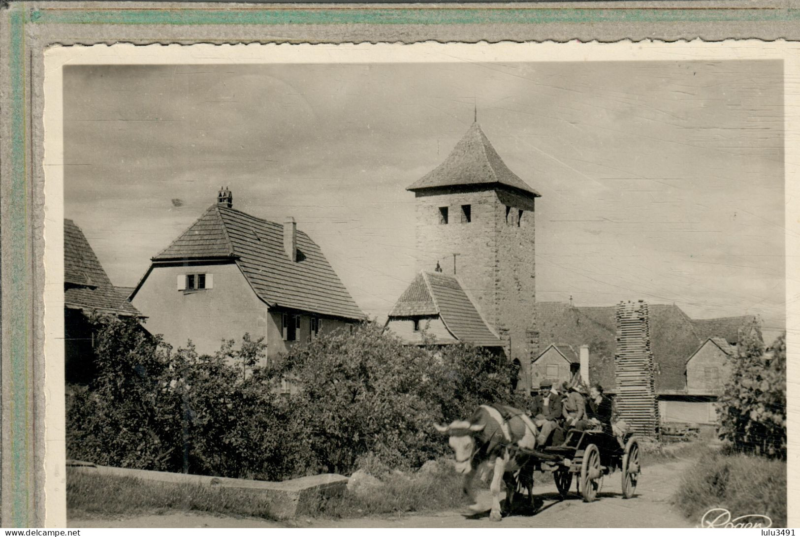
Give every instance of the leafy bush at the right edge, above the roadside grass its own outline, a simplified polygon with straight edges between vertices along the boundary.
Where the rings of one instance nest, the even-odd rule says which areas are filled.
[[[770,359],[758,323],[742,329],[718,428],[735,451],[786,459],[786,335],[774,343]]]

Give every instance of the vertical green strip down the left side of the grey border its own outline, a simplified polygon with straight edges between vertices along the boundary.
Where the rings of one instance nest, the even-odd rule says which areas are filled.
[[[6,248],[6,259],[3,268],[10,271],[10,289],[5,308],[2,311],[3,322],[8,327],[10,336],[9,360],[11,397],[10,427],[6,428],[11,449],[10,483],[3,483],[3,496],[11,498],[11,520],[14,527],[29,526],[31,519],[29,473],[33,471],[30,454],[30,416],[28,401],[32,393],[28,376],[28,339],[30,337],[29,311],[32,290],[30,287],[30,264],[28,262],[27,235],[30,230],[27,214],[27,175],[26,162],[27,130],[26,130],[26,65],[25,65],[25,17],[22,10],[11,10],[10,14],[10,46],[9,66],[11,74],[11,155],[10,155],[10,192],[8,212],[2,225],[9,229],[6,238],[11,247]],[[9,292],[10,291],[10,292]],[[5,455],[5,454],[4,454]],[[6,521],[3,521],[6,525]]]

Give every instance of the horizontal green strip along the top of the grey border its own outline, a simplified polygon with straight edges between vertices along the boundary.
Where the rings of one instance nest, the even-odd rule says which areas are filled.
[[[46,24],[542,24],[592,22],[770,22],[800,20],[800,10],[635,8],[351,8],[233,10],[70,10],[42,8],[30,22]]]

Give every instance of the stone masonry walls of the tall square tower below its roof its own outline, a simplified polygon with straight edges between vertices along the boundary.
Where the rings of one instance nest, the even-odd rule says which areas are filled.
[[[532,200],[530,200],[532,203]],[[462,205],[471,221],[462,223]],[[439,207],[448,207],[440,224]],[[538,345],[535,331],[534,212],[518,208],[506,219],[506,205],[494,190],[417,194],[417,268],[455,274],[483,319],[508,344],[510,359],[519,359],[521,390],[530,389],[530,363]]]

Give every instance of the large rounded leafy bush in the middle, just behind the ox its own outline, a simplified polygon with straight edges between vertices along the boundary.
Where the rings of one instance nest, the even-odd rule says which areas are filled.
[[[404,345],[374,323],[294,347],[278,367],[298,387],[290,406],[318,471],[348,472],[372,453],[390,467],[442,455],[432,424],[508,402],[505,359],[466,345]]]

